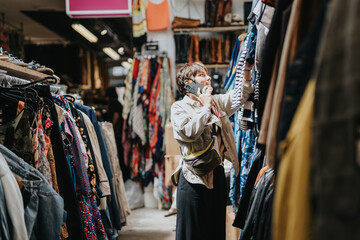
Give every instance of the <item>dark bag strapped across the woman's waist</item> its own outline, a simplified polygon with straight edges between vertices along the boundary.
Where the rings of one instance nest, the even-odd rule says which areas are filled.
[[[216,136],[204,150],[184,157],[184,163],[195,175],[205,176],[221,163],[220,155],[215,149],[215,142],[217,144]]]

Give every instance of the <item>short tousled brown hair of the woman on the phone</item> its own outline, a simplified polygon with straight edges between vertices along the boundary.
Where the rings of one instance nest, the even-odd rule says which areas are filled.
[[[180,93],[187,93],[187,90],[184,88],[185,80],[194,79],[201,70],[208,71],[201,62],[186,63],[179,69],[179,72],[176,74],[176,85]]]

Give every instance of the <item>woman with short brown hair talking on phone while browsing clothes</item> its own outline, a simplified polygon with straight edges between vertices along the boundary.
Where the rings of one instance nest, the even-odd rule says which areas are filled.
[[[244,103],[254,91],[251,84],[251,66],[245,69],[243,86]],[[198,96],[188,92],[187,81],[196,81],[204,86]],[[202,63],[186,64],[176,78],[178,90],[185,96],[171,107],[171,122],[174,137],[180,144],[182,160],[172,176],[177,188],[177,240],[225,239],[226,185],[222,160],[232,161],[236,174],[239,163],[233,129],[229,121],[237,109],[231,109],[233,92],[211,95],[211,78]],[[212,145],[213,143],[213,145]],[[202,153],[211,147],[215,166],[195,170],[196,161],[188,156]],[[201,158],[203,154],[200,155]],[[216,162],[215,159],[220,159]],[[201,159],[200,159],[201,160]],[[201,167],[201,166],[200,166]],[[201,174],[199,174],[199,172]]]

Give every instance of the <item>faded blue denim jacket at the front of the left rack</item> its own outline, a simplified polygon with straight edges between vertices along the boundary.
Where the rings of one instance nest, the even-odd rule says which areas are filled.
[[[1,144],[0,153],[16,179],[24,184],[21,193],[29,239],[60,239],[66,218],[64,200],[38,170]]]

